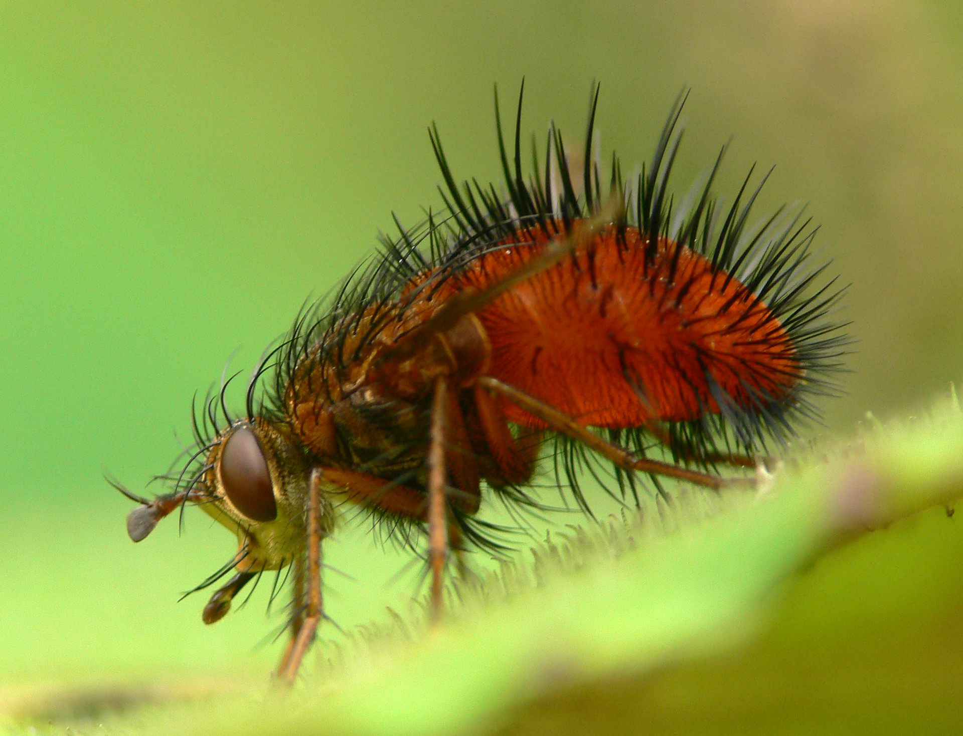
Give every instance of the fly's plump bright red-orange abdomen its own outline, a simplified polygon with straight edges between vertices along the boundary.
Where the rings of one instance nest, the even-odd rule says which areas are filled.
[[[479,256],[442,291],[483,289],[539,254],[550,237]],[[645,263],[637,228],[612,228],[587,252],[514,286],[477,313],[492,345],[488,373],[586,425],[625,428],[698,419],[783,401],[801,376],[768,308],[689,248],[659,242]],[[540,422],[503,403],[508,419]]]

